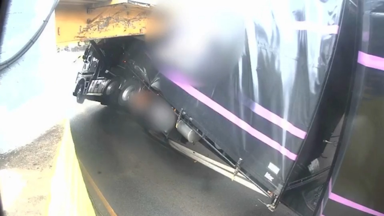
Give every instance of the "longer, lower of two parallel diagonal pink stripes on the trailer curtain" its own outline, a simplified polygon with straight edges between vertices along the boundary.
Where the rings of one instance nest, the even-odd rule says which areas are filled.
[[[171,80],[172,81],[172,80]],[[291,160],[296,160],[297,155],[286,149],[285,147],[281,146],[278,142],[275,140],[272,140],[265,134],[261,133],[260,131],[256,130],[255,128],[252,128],[252,126],[248,125],[245,121],[241,120],[238,118],[235,114],[231,113],[194,87],[188,85],[188,84],[183,84],[183,83],[178,83],[175,81],[174,82],[176,85],[178,85],[180,88],[182,88],[184,91],[186,91],[188,94],[199,100],[200,102],[204,103],[205,105],[209,106],[212,110],[216,111],[229,121],[231,121],[233,124],[237,125],[241,129],[247,131],[250,135],[253,137],[257,138],[258,140],[262,141],[268,146],[271,146],[275,150],[279,151],[282,155],[287,156]]]

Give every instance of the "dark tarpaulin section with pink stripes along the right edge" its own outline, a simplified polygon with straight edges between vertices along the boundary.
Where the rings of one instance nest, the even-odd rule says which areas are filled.
[[[357,4],[362,32],[353,95],[319,216],[384,216],[384,2]]]

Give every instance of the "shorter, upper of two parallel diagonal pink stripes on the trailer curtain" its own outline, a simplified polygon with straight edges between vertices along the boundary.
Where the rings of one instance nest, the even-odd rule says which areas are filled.
[[[283,128],[284,130],[290,132],[292,135],[297,136],[298,138],[305,139],[305,136],[307,133],[303,130],[300,130],[300,128],[296,128],[295,125],[290,123],[284,118],[281,118],[280,116],[276,115],[275,113],[267,110],[260,104],[252,101],[250,104],[250,109],[256,113],[259,116],[262,116],[266,120],[270,121],[271,123],[279,126],[280,128]]]

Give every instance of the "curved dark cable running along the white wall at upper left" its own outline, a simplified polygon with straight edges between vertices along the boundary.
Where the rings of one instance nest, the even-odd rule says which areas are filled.
[[[58,3],[59,3],[59,0],[55,0],[55,3],[53,3],[51,11],[48,13],[48,16],[43,21],[43,24],[40,26],[40,28],[37,30],[37,32],[32,36],[32,38],[24,45],[24,47],[21,48],[11,58],[0,63],[0,74],[3,73],[3,70],[5,68],[7,68],[7,67],[11,66],[13,63],[15,63],[19,58],[21,58],[32,47],[32,45],[40,37],[41,33],[43,33],[52,13],[55,11],[55,8],[58,5]]]

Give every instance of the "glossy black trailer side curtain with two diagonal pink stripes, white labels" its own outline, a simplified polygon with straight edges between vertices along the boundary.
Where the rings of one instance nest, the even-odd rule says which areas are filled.
[[[242,158],[242,168],[277,195],[313,118],[342,3],[257,2],[230,77],[200,88],[162,80],[166,99],[233,160]]]

